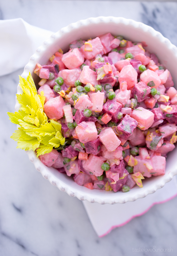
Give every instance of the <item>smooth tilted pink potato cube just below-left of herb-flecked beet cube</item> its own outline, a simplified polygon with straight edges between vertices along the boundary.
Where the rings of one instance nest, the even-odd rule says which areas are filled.
[[[111,127],[103,128],[99,134],[99,139],[109,152],[114,151],[121,143]]]

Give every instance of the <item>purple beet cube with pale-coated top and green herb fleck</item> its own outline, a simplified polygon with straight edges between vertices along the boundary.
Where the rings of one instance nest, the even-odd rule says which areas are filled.
[[[120,124],[117,126],[117,133],[119,137],[128,140],[128,138],[132,135],[134,129],[137,127],[138,122],[130,117],[129,115],[126,115]]]

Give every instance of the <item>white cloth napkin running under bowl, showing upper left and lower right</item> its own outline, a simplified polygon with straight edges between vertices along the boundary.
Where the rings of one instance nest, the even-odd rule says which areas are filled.
[[[23,68],[43,41],[53,32],[32,26],[22,20],[0,20],[0,76]],[[122,226],[140,216],[154,204],[163,203],[177,195],[176,177],[154,194],[125,204],[98,204],[84,201],[84,207],[98,234],[104,236],[113,228]]]

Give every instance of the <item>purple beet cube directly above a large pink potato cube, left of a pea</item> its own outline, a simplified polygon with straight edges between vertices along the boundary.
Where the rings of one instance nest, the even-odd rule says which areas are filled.
[[[139,82],[134,85],[132,89],[132,96],[137,99],[138,102],[145,100],[150,94],[151,88],[143,82]]]

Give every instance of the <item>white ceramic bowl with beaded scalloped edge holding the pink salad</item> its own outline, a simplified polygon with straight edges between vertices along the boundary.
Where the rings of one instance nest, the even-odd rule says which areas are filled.
[[[161,33],[155,31],[150,26],[134,20],[128,20],[122,17],[97,17],[80,20],[72,23],[65,28],[60,29],[45,41],[30,58],[29,63],[25,66],[22,77],[25,79],[31,72],[34,80],[37,79],[34,74],[36,63],[44,65],[47,60],[59,49],[63,51],[69,49],[69,43],[76,39],[95,38],[104,33],[112,33],[112,35],[122,35],[125,39],[131,41],[145,41],[151,53],[155,53],[161,64],[171,72],[173,81],[177,84],[177,48],[175,45],[162,36]],[[17,87],[17,93],[21,93],[21,89]],[[16,100],[16,111],[19,110],[19,103]],[[125,203],[127,201],[135,201],[138,198],[154,193],[157,189],[162,188],[166,182],[169,182],[174,175],[177,174],[177,148],[169,153],[167,158],[166,173],[163,176],[156,176],[143,180],[143,188],[134,187],[129,192],[101,191],[89,190],[86,187],[80,186],[73,181],[73,178],[68,177],[52,167],[47,167],[41,163],[33,151],[28,152],[30,161],[35,165],[35,168],[41,172],[42,176],[49,180],[51,184],[57,186],[61,191],[65,191],[70,196],[76,196],[80,200],[88,200],[89,202],[98,202],[100,204],[115,204]]]

